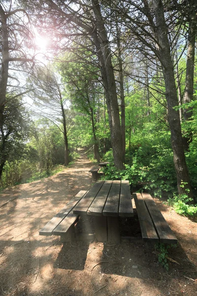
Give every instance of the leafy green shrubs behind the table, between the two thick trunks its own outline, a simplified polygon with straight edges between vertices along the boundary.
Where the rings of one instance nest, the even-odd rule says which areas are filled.
[[[104,159],[112,160],[110,157]],[[163,192],[172,196],[175,191],[176,176],[171,149],[164,149],[162,145],[152,148],[144,145],[133,151],[131,160],[131,164],[125,164],[125,170],[122,171],[108,165],[103,169],[105,174],[103,178],[129,180],[132,187],[140,185],[141,189],[148,189],[156,196],[161,197]]]

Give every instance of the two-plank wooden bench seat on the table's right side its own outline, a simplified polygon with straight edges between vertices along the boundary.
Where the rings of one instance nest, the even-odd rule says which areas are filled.
[[[133,193],[137,215],[145,242],[177,244],[177,238],[148,193]]]

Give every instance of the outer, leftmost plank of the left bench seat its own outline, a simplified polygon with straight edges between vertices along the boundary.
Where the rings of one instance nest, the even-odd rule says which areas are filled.
[[[81,190],[75,197],[73,197],[66,206],[55,215],[40,231],[39,235],[52,235],[53,230],[62,222],[66,215],[73,209],[73,207],[81,200],[87,191]]]

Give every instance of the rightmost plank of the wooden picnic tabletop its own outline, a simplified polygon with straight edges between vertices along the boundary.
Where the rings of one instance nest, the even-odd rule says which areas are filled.
[[[127,180],[121,181],[119,216],[120,217],[133,216],[130,185],[129,185],[129,181]]]

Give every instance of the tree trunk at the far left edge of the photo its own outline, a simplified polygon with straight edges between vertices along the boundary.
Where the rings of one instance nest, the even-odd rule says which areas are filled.
[[[0,18],[1,18],[1,71],[0,71],[0,127],[3,126],[3,111],[6,100],[6,88],[8,79],[8,67],[9,67],[9,45],[8,45],[8,32],[6,24],[6,15],[0,5]]]

